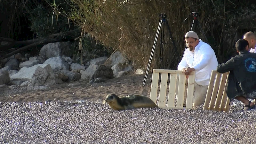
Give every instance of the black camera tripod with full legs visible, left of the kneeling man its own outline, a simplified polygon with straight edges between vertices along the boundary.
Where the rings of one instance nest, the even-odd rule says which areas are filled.
[[[161,34],[160,34],[161,37],[160,37],[159,63],[160,63],[161,69],[163,69],[163,44],[164,44],[164,24],[165,23],[166,23],[168,32],[170,34],[170,39],[172,40],[174,50],[175,50],[177,56],[179,56],[179,53],[177,51],[177,47],[176,47],[175,42],[174,42],[173,37],[172,37],[172,32],[171,32],[170,26],[168,24],[168,21],[166,20],[166,14],[161,13],[161,14],[159,14],[159,25],[158,25],[158,28],[157,28],[157,31],[156,31],[155,41],[154,41],[152,52],[151,52],[151,55],[150,55],[150,58],[149,58],[149,61],[148,61],[148,67],[147,67],[146,75],[145,75],[145,78],[143,80],[142,86],[144,86],[145,83],[146,83],[146,79],[147,79],[147,76],[148,76],[148,70],[149,70],[149,67],[150,67],[150,64],[151,64],[151,61],[152,61],[152,57],[153,57],[153,54],[154,54],[154,51],[155,51],[156,41],[157,41],[157,38],[158,38],[158,35],[159,35],[160,28],[161,28]],[[161,27],[162,25],[163,25],[163,27]],[[167,44],[167,43],[165,43],[165,44]],[[170,47],[170,50],[171,50],[171,47]]]

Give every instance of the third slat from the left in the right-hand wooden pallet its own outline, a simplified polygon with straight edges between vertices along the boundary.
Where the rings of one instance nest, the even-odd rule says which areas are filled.
[[[217,98],[216,98],[216,101],[215,101],[214,110],[219,110],[220,100],[221,100],[223,92],[224,92],[224,87],[225,87],[227,75],[228,75],[228,73],[223,73],[222,76],[221,76],[220,86],[219,86]]]

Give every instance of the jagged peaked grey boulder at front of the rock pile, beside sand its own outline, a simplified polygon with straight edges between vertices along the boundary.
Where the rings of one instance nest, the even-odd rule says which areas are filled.
[[[63,83],[60,79],[55,79],[52,67],[50,64],[46,65],[44,68],[38,66],[28,84],[30,86],[40,86],[47,84],[60,84]]]

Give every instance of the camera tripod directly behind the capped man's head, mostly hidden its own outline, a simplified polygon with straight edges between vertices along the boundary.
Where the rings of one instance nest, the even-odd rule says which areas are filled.
[[[193,28],[195,28],[195,32],[197,33],[197,32],[198,32],[197,28],[199,27],[201,33],[204,35],[204,38],[206,39],[206,43],[208,44],[208,40],[207,40],[207,38],[206,38],[206,36],[205,36],[205,34],[204,34],[204,31],[203,31],[203,29],[202,29],[202,27],[201,27],[199,21],[197,20],[197,16],[199,16],[199,12],[191,12],[191,13],[188,15],[188,17],[189,17],[190,15],[192,15],[193,18],[194,18],[194,20],[193,20],[193,22],[192,22],[192,27],[191,27],[191,30],[190,30],[190,31],[192,31]],[[184,22],[188,19],[188,17],[184,20]],[[198,33],[197,33],[197,34],[198,34]],[[186,50],[187,48],[188,48],[188,46],[186,45],[185,50]],[[184,56],[184,54],[185,54],[185,50],[184,50],[183,56]],[[183,56],[182,56],[182,57],[183,57]]]

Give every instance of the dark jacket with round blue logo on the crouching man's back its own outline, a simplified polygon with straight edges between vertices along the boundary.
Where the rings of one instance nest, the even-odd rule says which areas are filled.
[[[242,51],[227,62],[219,64],[217,71],[230,71],[226,87],[230,101],[236,96],[256,90],[256,53]]]

